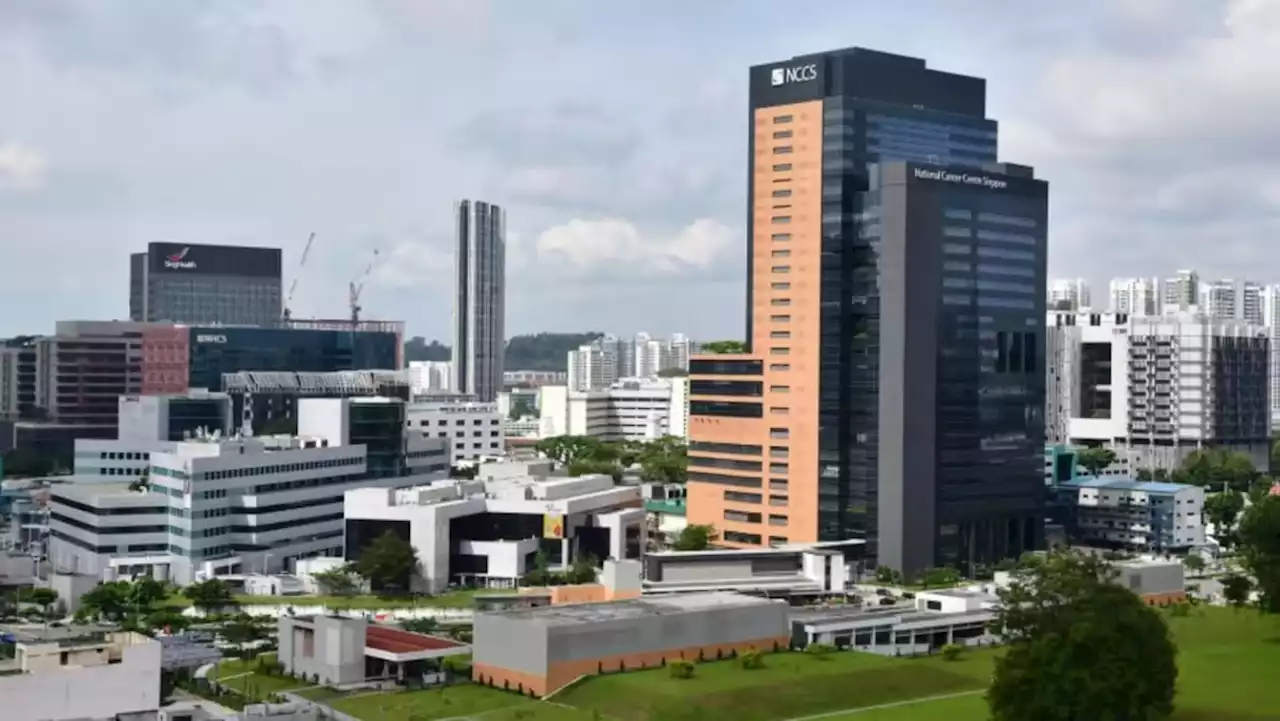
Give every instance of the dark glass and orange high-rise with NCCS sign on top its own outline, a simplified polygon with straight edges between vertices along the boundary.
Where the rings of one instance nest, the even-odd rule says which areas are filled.
[[[690,361],[689,521],[906,572],[1038,548],[1048,188],[986,81],[850,49],[750,106],[750,351]]]

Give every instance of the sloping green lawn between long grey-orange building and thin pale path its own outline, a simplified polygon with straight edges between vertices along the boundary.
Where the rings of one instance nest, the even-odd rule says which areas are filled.
[[[666,668],[598,676],[556,701],[622,721],[776,721],[982,689],[991,677],[989,656],[946,663],[854,652],[824,658],[783,652],[765,656],[765,667],[754,671],[735,661],[699,663],[687,680],[672,679]]]

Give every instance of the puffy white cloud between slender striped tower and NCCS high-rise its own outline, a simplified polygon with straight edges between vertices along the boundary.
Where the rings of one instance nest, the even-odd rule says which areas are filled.
[[[710,269],[735,241],[733,229],[713,218],[700,218],[667,236],[645,234],[628,220],[605,218],[548,228],[538,236],[535,248],[539,265],[567,265],[573,274],[682,275]]]

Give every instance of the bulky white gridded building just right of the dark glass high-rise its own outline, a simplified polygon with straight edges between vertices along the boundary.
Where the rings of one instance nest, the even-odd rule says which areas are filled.
[[[1048,314],[1051,438],[1106,444],[1133,469],[1222,448],[1267,467],[1267,329],[1198,312]]]

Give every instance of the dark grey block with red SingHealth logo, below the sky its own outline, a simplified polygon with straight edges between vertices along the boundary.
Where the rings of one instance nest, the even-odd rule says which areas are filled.
[[[129,256],[129,319],[275,325],[280,248],[150,243]]]

